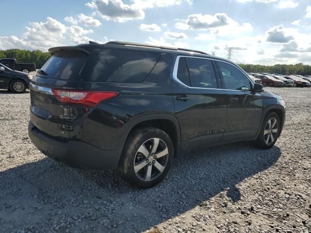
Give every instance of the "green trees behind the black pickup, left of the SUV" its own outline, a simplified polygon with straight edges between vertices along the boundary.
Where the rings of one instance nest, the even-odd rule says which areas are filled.
[[[15,58],[20,63],[35,63],[37,69],[41,68],[50,57],[49,52],[41,50],[0,50],[0,58]]]

